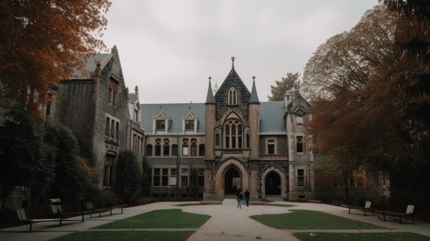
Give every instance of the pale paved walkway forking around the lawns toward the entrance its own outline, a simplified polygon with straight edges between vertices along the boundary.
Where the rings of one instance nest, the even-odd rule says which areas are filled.
[[[193,202],[191,202],[193,203]],[[361,229],[364,232],[394,232],[394,231],[409,231],[419,233],[430,237],[430,223],[416,222],[416,225],[403,224],[398,222],[384,222],[376,216],[364,216],[357,212],[356,214],[348,214],[348,209],[345,207],[336,207],[331,205],[316,204],[316,203],[286,203],[283,204],[295,205],[295,207],[275,207],[264,205],[242,205],[242,209],[236,207],[237,203],[234,199],[225,199],[223,205],[196,205],[188,207],[174,206],[177,203],[151,203],[138,207],[130,207],[124,209],[124,214],[119,214],[120,210],[113,211],[113,215],[104,213],[101,218],[89,218],[86,216],[85,222],[65,222],[63,226],[58,226],[55,222],[40,222],[33,225],[33,232],[29,233],[29,225],[19,227],[10,227],[0,229],[0,240],[2,241],[21,241],[21,240],[50,240],[59,236],[64,236],[76,231],[93,231],[93,227],[102,225],[114,220],[120,220],[142,214],[147,211],[156,209],[173,209],[179,208],[183,211],[194,214],[207,214],[212,216],[202,227],[190,237],[189,241],[196,240],[297,240],[291,233],[295,232],[342,232],[342,233],[358,233],[357,229],[317,229],[317,230],[280,230],[264,226],[259,222],[248,218],[251,215],[258,214],[282,214],[288,212],[288,209],[308,209],[315,211],[324,211],[329,214],[335,214],[345,218],[369,222],[374,225],[386,227],[387,229]],[[121,231],[124,229],[120,229]],[[154,230],[154,229],[135,229],[135,230]],[[158,229],[159,230],[159,229]],[[172,229],[163,229],[166,231]],[[176,230],[176,229],[175,229]],[[183,229],[181,229],[183,230]],[[195,229],[187,229],[195,230]]]

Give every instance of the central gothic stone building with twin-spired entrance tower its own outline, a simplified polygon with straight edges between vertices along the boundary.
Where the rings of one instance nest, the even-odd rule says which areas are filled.
[[[260,102],[234,65],[205,103],[141,104],[152,196],[223,198],[236,185],[251,198],[315,198],[309,108],[294,90]]]

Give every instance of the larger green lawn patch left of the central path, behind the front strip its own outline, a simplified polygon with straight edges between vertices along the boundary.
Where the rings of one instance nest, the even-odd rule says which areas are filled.
[[[203,225],[210,216],[184,213],[181,209],[161,209],[117,220],[95,227],[95,229],[181,229]]]

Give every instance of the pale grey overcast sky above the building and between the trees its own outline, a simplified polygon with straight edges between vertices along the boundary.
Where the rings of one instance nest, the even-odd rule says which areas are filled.
[[[235,69],[260,101],[287,72],[303,73],[328,38],[377,0],[113,0],[103,41],[117,45],[126,86],[143,103],[201,103]]]

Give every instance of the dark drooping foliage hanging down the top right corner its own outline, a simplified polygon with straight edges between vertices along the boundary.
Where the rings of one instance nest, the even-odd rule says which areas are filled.
[[[381,0],[380,0],[381,1]],[[404,93],[399,102],[409,117],[409,130],[416,145],[430,149],[430,1],[383,0],[390,10],[405,16],[406,23],[395,33],[400,60],[414,61],[419,67],[396,76],[398,91]],[[429,159],[430,150],[425,153]]]

